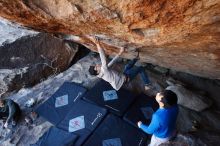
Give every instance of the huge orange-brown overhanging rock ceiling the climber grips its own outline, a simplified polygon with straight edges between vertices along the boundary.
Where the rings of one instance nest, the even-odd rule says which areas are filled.
[[[220,0],[0,0],[0,16],[108,54],[220,79]]]

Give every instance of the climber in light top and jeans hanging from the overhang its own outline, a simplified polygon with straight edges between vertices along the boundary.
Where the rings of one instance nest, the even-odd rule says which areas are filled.
[[[124,52],[124,47],[121,47],[119,53],[107,64],[105,52],[102,49],[98,38],[91,37],[90,39],[92,42],[96,44],[102,63],[101,65],[96,64],[94,66],[90,66],[89,73],[91,75],[97,75],[97,77],[102,78],[106,82],[109,82],[115,90],[119,90],[124,83],[131,81],[140,73],[141,78],[145,84],[145,89],[146,90],[149,89],[150,81],[148,79],[147,74],[144,71],[144,68],[142,66],[134,66],[134,64],[139,59],[139,52],[138,52],[138,56],[135,59],[131,60],[130,62],[128,62],[127,65],[125,65],[123,73],[119,73],[111,69],[110,67]]]

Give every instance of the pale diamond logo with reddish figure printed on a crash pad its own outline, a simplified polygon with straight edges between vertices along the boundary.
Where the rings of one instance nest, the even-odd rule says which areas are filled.
[[[84,116],[79,116],[69,121],[69,132],[75,132],[83,128],[85,128]]]

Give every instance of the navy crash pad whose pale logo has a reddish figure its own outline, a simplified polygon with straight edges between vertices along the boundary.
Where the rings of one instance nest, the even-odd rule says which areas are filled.
[[[78,135],[78,140],[74,146],[80,146],[95,130],[106,114],[106,109],[86,101],[79,100],[74,104],[66,117],[57,125],[57,127]],[[82,117],[84,119],[84,124],[80,122]],[[70,126],[70,123],[72,126]],[[82,125],[84,125],[84,128],[82,129],[78,129],[76,131],[72,131],[70,129],[70,127],[72,127],[72,129],[83,127]]]

